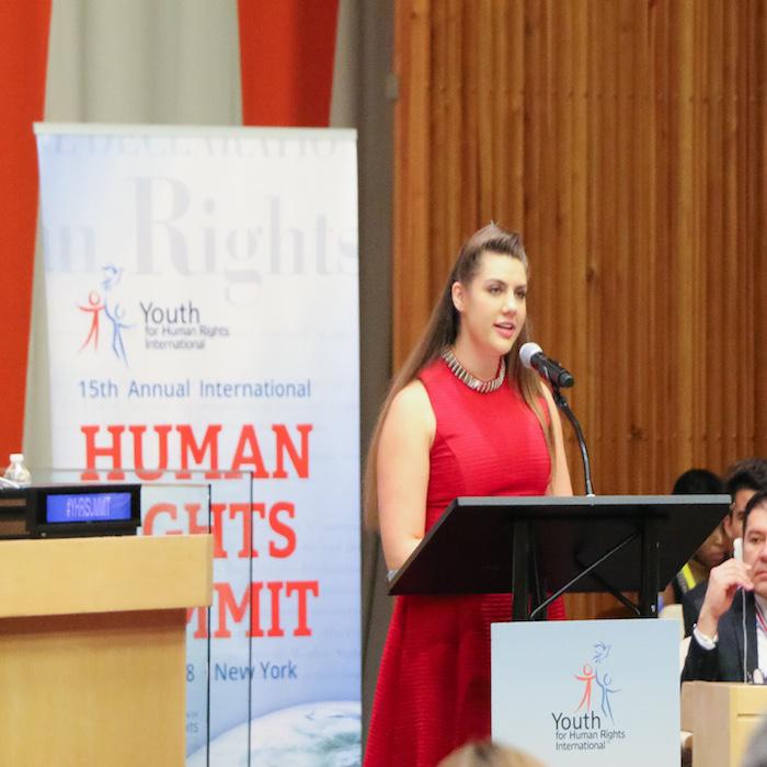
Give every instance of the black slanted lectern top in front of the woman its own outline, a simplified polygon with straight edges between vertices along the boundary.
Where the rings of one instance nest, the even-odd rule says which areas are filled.
[[[657,582],[668,583],[729,511],[728,495],[458,497],[392,580],[390,594],[511,591],[514,526],[529,523],[533,553],[549,591],[568,584],[621,541],[651,528]],[[627,542],[594,571],[619,591],[640,587],[642,545]],[[588,574],[574,592],[604,592]]]

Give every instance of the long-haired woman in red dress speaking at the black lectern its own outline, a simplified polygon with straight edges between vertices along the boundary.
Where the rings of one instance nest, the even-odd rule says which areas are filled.
[[[572,494],[551,392],[518,359],[527,275],[518,234],[476,232],[391,386],[365,486],[390,571],[458,495]],[[490,623],[511,617],[510,595],[397,598],[367,767],[434,767],[490,735]],[[564,617],[561,603],[549,617]]]

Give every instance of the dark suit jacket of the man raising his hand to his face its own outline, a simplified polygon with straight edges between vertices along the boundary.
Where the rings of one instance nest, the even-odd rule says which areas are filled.
[[[743,637],[743,592],[735,594],[732,607],[719,620],[719,641],[713,650],[703,650],[695,637],[682,671],[682,680],[745,682],[743,678],[743,649],[746,648],[746,677],[751,682],[757,667],[756,614],[754,595],[746,594],[746,620]]]

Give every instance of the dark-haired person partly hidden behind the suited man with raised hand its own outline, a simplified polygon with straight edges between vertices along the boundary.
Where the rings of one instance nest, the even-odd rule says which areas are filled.
[[[683,474],[684,476],[684,474]],[[743,537],[743,517],[751,497],[760,490],[767,490],[767,460],[746,458],[730,468],[724,480],[724,492],[730,495],[730,511],[722,522],[726,535],[725,546],[732,552],[732,541]],[[685,618],[685,636],[689,636],[698,620],[700,607],[706,596],[708,580],[682,595],[682,608]]]

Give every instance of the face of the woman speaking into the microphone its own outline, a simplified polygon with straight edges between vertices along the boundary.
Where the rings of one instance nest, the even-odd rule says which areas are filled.
[[[483,252],[473,279],[453,284],[459,335],[479,353],[507,354],[527,317],[527,273],[519,259]]]

